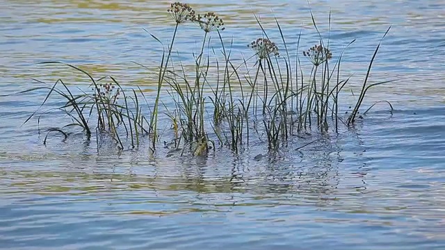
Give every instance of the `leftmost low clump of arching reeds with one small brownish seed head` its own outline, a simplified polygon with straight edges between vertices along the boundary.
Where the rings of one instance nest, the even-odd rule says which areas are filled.
[[[26,93],[35,90],[49,90],[47,97],[45,97],[38,110],[40,110],[50,98],[58,97],[65,99],[65,103],[63,103],[62,106],[50,108],[40,113],[39,122],[43,115],[49,116],[49,119],[51,119],[51,115],[55,113],[61,113],[70,119],[70,123],[68,124],[49,128],[47,130],[48,133],[58,131],[65,135],[66,139],[67,132],[65,130],[72,126],[78,126],[85,132],[87,140],[90,140],[93,132],[106,133],[111,135],[111,138],[118,143],[119,149],[124,149],[124,144],[121,140],[124,134],[125,137],[130,139],[131,147],[137,147],[140,144],[141,135],[148,133],[145,128],[147,119],[145,115],[143,115],[142,108],[139,105],[139,97],[140,95],[143,96],[143,92],[138,94],[135,90],[129,90],[130,94],[127,94],[127,90],[124,90],[113,76],[95,79],[85,70],[73,65],[59,62],[42,64],[67,65],[86,75],[90,80],[90,86],[87,92],[78,89],[78,91],[80,90],[81,92],[80,94],[73,94],[73,90],[70,89],[69,85],[62,79],[58,79],[54,85],[48,85],[42,81],[35,80],[47,86],[19,92]],[[105,81],[108,82],[104,83]],[[37,115],[38,110],[31,114],[24,124]],[[122,131],[118,129],[120,127],[123,127]],[[44,139],[44,143],[47,141],[47,136]]]

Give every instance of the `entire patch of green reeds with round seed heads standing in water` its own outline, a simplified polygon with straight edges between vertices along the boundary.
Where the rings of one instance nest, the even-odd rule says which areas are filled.
[[[154,100],[146,97],[139,87],[124,88],[113,76],[95,79],[74,65],[44,63],[72,67],[88,76],[91,82],[88,91],[81,90],[81,94],[73,94],[61,79],[54,85],[24,91],[49,90],[42,105],[53,94],[66,100],[57,110],[70,117],[72,122],[63,127],[49,128],[49,132],[57,131],[66,138],[67,127],[79,126],[88,140],[94,133],[97,136],[105,133],[115,140],[120,149],[125,148],[122,140],[125,137],[129,139],[125,141],[131,147],[138,147],[142,140],[148,140],[150,149],[156,151],[165,145],[165,142],[161,144],[159,125],[159,115],[164,114],[165,119],[171,122],[169,129],[172,133],[166,135],[171,140],[168,145],[181,149],[183,153],[202,155],[218,146],[238,152],[248,147],[252,137],[267,143],[269,150],[276,150],[298,133],[314,129],[320,133],[337,132],[341,125],[354,124],[360,117],[359,110],[367,90],[388,82],[368,83],[379,43],[370,60],[357,103],[348,117],[344,117],[339,115],[339,94],[350,78],[341,79],[343,51],[332,64],[329,42],[321,38],[313,16],[314,28],[320,39],[313,47],[298,51],[300,34],[295,48],[295,64],[291,63],[292,49],[286,43],[279,22],[276,24],[280,31],[280,48],[270,40],[259,19],[257,23],[262,31],[261,38],[255,38],[247,45],[252,51],[251,57],[236,64],[231,58],[234,41],[230,42],[229,47],[223,42],[223,33],[227,32],[225,22],[215,12],[196,14],[188,4],[175,2],[168,8],[168,13],[175,22],[175,30],[168,47],[162,45],[164,49],[157,72]],[[195,24],[203,35],[200,51],[193,53],[192,72],[187,71],[183,63],[172,59],[177,33],[186,23]],[[215,49],[209,49],[209,45],[206,49],[211,34],[216,34],[219,40],[219,60]],[[155,35],[152,38],[163,44]],[[310,74],[303,74],[301,55],[312,64]],[[213,57],[216,60],[211,65]],[[216,69],[216,72],[213,73],[212,69]],[[168,93],[168,98],[174,101],[173,106],[161,106],[162,93]],[[141,103],[141,100],[145,103]],[[33,113],[29,119],[35,115]],[[165,135],[163,137],[165,139]]]

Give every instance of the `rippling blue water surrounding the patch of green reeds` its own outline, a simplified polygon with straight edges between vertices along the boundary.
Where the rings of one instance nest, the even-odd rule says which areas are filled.
[[[199,2],[199,3],[198,3]],[[172,25],[168,1],[0,1],[0,92],[31,88],[31,78],[68,79],[63,60],[111,74],[150,93],[161,40]],[[261,35],[252,12],[275,40],[274,15],[294,45],[316,40],[306,1],[191,1],[225,19],[234,50]],[[149,157],[146,150],[97,154],[95,142],[72,135],[45,147],[36,120],[21,126],[45,92],[0,97],[0,248],[2,249],[443,249],[445,247],[445,21],[443,1],[316,1],[334,53],[348,49],[346,72],[366,63],[392,25],[373,67],[370,92],[386,99],[355,128],[325,135],[311,147],[268,155],[259,142],[241,156],[224,149],[208,158]],[[179,32],[175,48],[196,50],[202,33]],[[197,42],[199,44],[199,42]],[[236,53],[234,53],[236,54]],[[240,53],[236,54],[240,56]],[[181,58],[187,60],[186,57]],[[76,76],[77,77],[77,76]],[[73,80],[74,79],[74,80]],[[50,119],[56,124],[58,118]],[[42,125],[44,126],[44,124]]]

